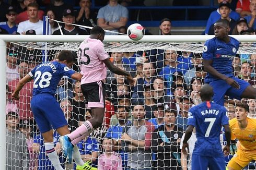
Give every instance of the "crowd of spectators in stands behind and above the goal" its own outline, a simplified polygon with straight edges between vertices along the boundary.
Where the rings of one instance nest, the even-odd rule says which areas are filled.
[[[219,8],[209,17],[205,34],[214,33],[213,24],[220,18],[230,21],[230,34],[254,34],[256,0],[238,1],[236,11],[230,9],[230,1],[218,0]],[[133,1],[122,1],[122,4],[125,2]],[[110,0],[98,13],[90,9],[90,0],[80,0],[79,6],[79,10],[73,10],[62,0],[54,0],[43,11],[34,0],[19,0],[15,6],[0,1],[0,33],[42,34],[44,14],[65,22],[60,29],[50,20],[49,34],[89,34],[89,29],[70,23],[126,32],[129,11],[118,1]],[[161,35],[171,34],[171,20],[162,19],[159,29]],[[57,53],[49,51],[48,60],[55,59]],[[43,62],[42,56],[42,50],[32,47],[11,43],[7,46],[6,169],[54,169],[30,108],[33,81],[21,90],[18,101],[10,98],[18,81]],[[181,152],[182,136],[187,128],[189,108],[202,102],[200,88],[206,76],[202,54],[152,49],[112,52],[109,56],[114,65],[129,71],[136,83],[130,87],[125,77],[107,71],[104,123],[78,143],[84,161],[90,161],[91,166],[98,169],[187,169],[185,166],[189,166],[190,160]],[[256,55],[238,54],[234,59],[234,74],[256,86],[255,65]],[[91,117],[79,82],[63,78],[56,99],[70,131]],[[230,104],[235,102],[228,98],[225,102],[229,119],[235,117],[235,106]],[[247,102],[249,116],[256,117],[256,100]],[[59,138],[54,131],[55,150],[65,166]],[[192,148],[195,140],[194,133],[189,141]],[[254,163],[248,167],[256,168]]]

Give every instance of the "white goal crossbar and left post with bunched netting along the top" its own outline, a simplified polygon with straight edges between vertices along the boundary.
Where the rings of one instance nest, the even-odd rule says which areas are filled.
[[[256,54],[256,35],[230,35],[241,43],[239,54]],[[40,48],[41,50],[70,50],[77,52],[80,42],[84,41],[89,35],[0,35],[0,95],[6,96],[6,50],[7,42],[15,43],[20,46]],[[145,35],[139,41],[131,40],[127,35],[106,35],[103,41],[107,52],[141,52],[148,50],[174,50],[192,53],[202,53],[203,43],[213,38],[214,35]],[[33,43],[31,43],[33,42]],[[47,42],[47,45],[43,43]],[[164,55],[164,53],[162,53]],[[201,55],[201,54],[200,54]],[[201,55],[202,56],[202,55]],[[189,84],[187,84],[189,85]],[[6,129],[6,97],[1,98],[0,109],[0,134],[5,137]],[[0,169],[5,169],[5,138],[0,139]]]

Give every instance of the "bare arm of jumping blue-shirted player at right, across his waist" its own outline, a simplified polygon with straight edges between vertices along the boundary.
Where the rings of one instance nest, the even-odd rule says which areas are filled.
[[[219,73],[215,68],[213,68],[212,64],[213,64],[213,60],[212,59],[203,59],[203,63],[204,63],[204,69],[206,72],[208,72],[209,74],[213,75],[216,78],[225,80],[230,86],[239,89],[239,84],[232,78],[229,78],[221,73]]]

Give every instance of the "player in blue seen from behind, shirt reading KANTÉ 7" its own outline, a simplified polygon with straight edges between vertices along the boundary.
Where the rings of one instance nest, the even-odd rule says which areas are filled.
[[[183,140],[182,152],[186,155],[189,148],[187,141],[191,137],[193,129],[196,129],[195,148],[192,154],[192,170],[225,169],[225,158],[229,154],[230,129],[226,108],[212,102],[213,88],[204,84],[200,90],[202,103],[189,110],[188,128]],[[225,128],[227,145],[222,151],[219,142],[219,134]],[[224,153],[223,153],[224,152]]]

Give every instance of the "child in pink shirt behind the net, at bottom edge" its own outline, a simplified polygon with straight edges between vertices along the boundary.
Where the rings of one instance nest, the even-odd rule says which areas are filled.
[[[112,169],[112,170],[122,170],[122,159],[121,156],[113,152],[114,142],[112,139],[103,140],[104,153],[99,156],[98,159],[98,169]]]

